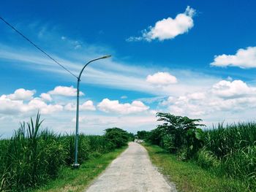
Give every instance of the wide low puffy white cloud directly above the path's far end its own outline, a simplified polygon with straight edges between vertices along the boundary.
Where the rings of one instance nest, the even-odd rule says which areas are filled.
[[[132,101],[132,104],[120,104],[118,100],[110,101],[110,99],[103,99],[97,107],[103,112],[116,112],[120,114],[144,112],[149,109],[149,107],[141,101]]]

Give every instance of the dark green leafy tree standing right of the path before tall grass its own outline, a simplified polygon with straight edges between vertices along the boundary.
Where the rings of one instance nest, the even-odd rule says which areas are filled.
[[[205,126],[200,123],[201,119],[190,119],[186,116],[176,116],[165,112],[157,112],[157,117],[158,121],[164,122],[157,126],[162,139],[159,145],[167,148],[171,153],[176,153],[186,147],[186,156],[190,158],[203,144],[201,139],[203,131],[197,128]]]

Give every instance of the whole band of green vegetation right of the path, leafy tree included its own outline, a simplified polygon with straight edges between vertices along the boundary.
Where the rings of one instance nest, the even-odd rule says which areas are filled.
[[[247,191],[256,188],[256,123],[219,124],[203,131],[200,119],[169,113],[157,117],[164,123],[142,139],[215,175],[241,180]]]

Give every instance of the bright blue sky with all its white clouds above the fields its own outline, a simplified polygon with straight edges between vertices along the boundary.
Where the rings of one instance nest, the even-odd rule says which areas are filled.
[[[157,126],[157,112],[254,121],[255,1],[1,1],[7,20],[81,77],[80,132]],[[0,135],[39,110],[75,131],[77,79],[0,20]]]

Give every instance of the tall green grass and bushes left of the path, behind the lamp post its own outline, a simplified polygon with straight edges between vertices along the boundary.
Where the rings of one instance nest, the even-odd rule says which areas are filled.
[[[35,121],[20,124],[11,139],[0,140],[0,191],[37,188],[56,178],[61,167],[74,162],[74,135],[40,130],[41,123],[37,114]],[[80,134],[78,162],[82,164],[89,158],[127,145],[128,139],[127,131],[120,128],[108,128],[104,136]]]

